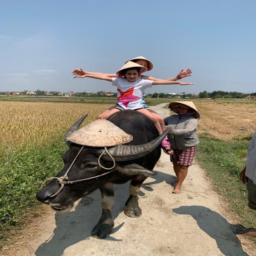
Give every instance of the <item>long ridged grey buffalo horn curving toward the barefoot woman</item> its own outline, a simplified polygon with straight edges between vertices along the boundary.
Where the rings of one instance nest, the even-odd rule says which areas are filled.
[[[118,145],[109,148],[108,152],[116,161],[128,161],[143,157],[149,154],[151,151],[155,150],[155,148],[166,137],[170,129],[171,128],[169,127],[163,134],[158,136],[155,140],[150,141],[149,143],[143,145]],[[111,160],[109,155],[106,153],[102,155],[102,158],[105,160]]]

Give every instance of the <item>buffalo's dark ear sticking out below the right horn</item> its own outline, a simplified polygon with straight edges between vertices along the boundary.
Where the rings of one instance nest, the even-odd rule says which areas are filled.
[[[125,174],[128,176],[143,174],[145,176],[155,175],[149,169],[145,169],[141,167],[139,164],[131,163],[131,162],[119,162],[116,166],[117,171],[121,174]]]

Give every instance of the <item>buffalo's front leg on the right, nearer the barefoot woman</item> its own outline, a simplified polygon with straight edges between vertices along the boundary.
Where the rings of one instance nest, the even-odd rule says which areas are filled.
[[[140,192],[140,186],[147,177],[138,176],[137,179],[132,179],[129,186],[130,196],[126,201],[125,214],[128,217],[135,218],[140,217],[142,212],[138,203],[138,193]]]

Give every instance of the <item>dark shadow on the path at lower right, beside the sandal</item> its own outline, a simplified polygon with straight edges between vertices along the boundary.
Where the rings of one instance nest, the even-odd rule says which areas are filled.
[[[199,205],[180,206],[179,208],[174,208],[173,212],[182,215],[191,215],[197,221],[198,227],[216,241],[223,255],[248,255],[243,251],[240,241],[233,233],[234,228],[237,226],[227,222],[219,213]]]

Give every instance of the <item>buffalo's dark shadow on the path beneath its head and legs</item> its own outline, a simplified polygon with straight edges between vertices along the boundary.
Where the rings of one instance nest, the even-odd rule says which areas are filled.
[[[124,211],[125,203],[129,197],[130,182],[122,185],[115,184],[115,203],[113,206],[113,220]],[[91,237],[92,229],[101,217],[101,193],[97,189],[85,196],[77,204],[73,212],[55,213],[57,227],[48,240],[43,242],[35,251],[36,256],[61,256],[66,248],[83,240],[97,239]],[[128,218],[128,217],[127,217]],[[105,240],[119,241],[113,237],[124,223],[115,226],[109,237]]]

